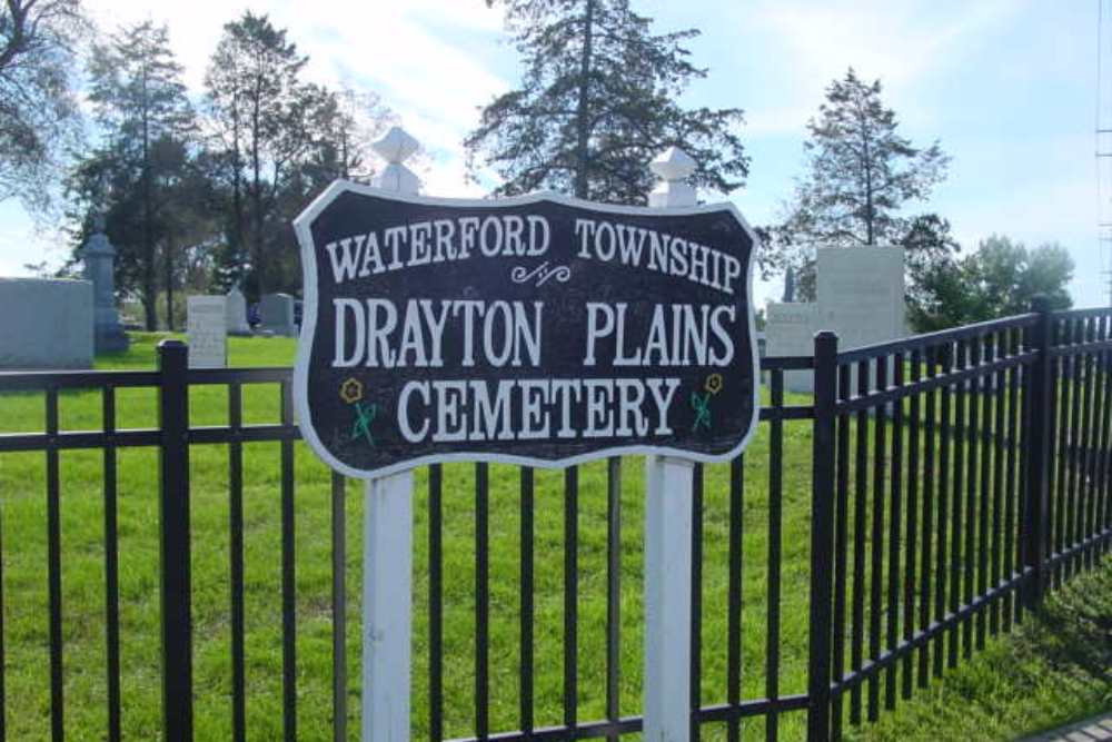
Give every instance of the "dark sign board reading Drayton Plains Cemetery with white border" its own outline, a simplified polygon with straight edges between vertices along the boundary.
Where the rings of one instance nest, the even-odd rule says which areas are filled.
[[[295,395],[334,468],[736,455],[757,421],[752,230],[731,205],[399,196],[295,221]]]

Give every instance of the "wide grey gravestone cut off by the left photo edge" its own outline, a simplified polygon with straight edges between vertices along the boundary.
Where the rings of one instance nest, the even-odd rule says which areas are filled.
[[[90,368],[92,284],[0,278],[0,368]]]

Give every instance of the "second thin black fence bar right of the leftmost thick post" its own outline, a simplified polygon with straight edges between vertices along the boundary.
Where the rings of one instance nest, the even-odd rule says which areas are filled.
[[[281,424],[294,425],[294,397],[288,382],[281,383]],[[282,732],[286,742],[297,740],[297,565],[294,540],[294,439],[281,442],[281,667]]]

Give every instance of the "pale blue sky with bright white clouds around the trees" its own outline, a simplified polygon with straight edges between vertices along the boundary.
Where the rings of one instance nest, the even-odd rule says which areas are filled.
[[[1027,245],[1061,243],[1076,263],[1078,306],[1104,303],[1108,283],[1093,156],[1098,3],[633,0],[658,30],[702,29],[691,48],[709,75],[685,102],[745,109],[751,176],[731,198],[752,224],[774,220],[791,196],[803,171],[806,121],[824,88],[852,65],[882,80],[905,136],[922,145],[939,139],[953,158],[931,201],[911,208],[949,218],[965,250],[993,233]],[[195,92],[220,26],[247,8],[268,12],[310,56],[312,78],[373,90],[400,115],[431,155],[423,174],[430,195],[481,192],[464,180],[459,142],[478,107],[517,80],[500,14],[483,0],[87,6],[106,29],[146,18],[168,22]],[[1112,99],[1112,75],[1104,82]],[[37,233],[18,205],[0,204],[0,275],[60,260],[59,245],[49,231]],[[777,291],[775,283],[763,284],[758,299]]]

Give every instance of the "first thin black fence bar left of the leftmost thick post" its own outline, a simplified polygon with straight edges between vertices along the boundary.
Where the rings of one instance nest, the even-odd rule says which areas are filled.
[[[105,443],[105,643],[108,683],[108,739],[120,739],[120,560],[116,496],[116,388],[108,384],[101,397]],[[0,657],[3,656],[0,651]]]

